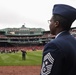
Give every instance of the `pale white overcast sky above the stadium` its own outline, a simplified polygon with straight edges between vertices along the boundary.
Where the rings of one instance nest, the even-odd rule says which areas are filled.
[[[43,28],[49,30],[54,4],[68,4],[76,8],[76,0],[0,0],[0,29]],[[76,27],[76,21],[72,24]]]

